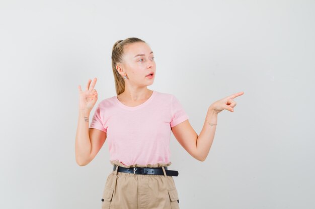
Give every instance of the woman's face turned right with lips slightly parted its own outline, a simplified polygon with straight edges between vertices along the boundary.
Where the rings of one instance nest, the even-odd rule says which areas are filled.
[[[123,59],[122,68],[131,85],[148,86],[153,83],[156,66],[153,52],[146,43],[136,42],[126,45]],[[149,73],[153,73],[152,78],[147,76]]]

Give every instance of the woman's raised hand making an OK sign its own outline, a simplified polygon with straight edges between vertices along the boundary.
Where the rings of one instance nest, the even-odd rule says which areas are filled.
[[[94,78],[92,84],[89,79],[86,90],[82,91],[81,85],[78,85],[80,93],[79,111],[90,113],[97,101],[97,91],[94,89],[97,78]],[[91,86],[90,86],[91,84]]]

